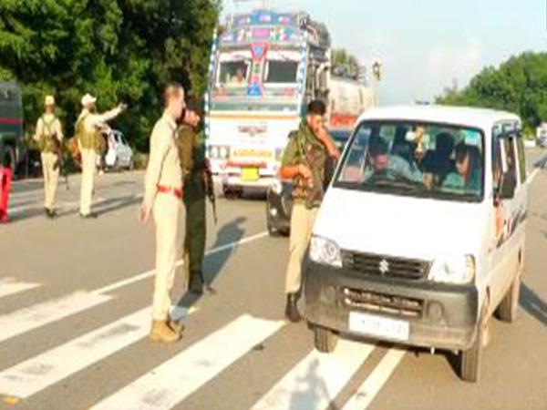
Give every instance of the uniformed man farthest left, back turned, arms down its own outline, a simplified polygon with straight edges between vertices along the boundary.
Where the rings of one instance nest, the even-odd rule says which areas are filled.
[[[49,219],[56,216],[55,197],[61,162],[58,155],[62,155],[63,144],[63,129],[54,111],[55,97],[46,96],[44,114],[38,118],[34,136],[41,152],[44,173],[44,211]]]

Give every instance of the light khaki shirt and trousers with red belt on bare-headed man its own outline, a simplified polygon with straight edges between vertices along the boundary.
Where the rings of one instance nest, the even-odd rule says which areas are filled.
[[[180,254],[182,200],[173,192],[182,189],[182,171],[175,142],[177,125],[167,114],[158,120],[150,137],[150,160],[145,177],[145,201],[152,204],[156,225],[156,281],[152,319],[166,321],[170,310],[170,289]]]

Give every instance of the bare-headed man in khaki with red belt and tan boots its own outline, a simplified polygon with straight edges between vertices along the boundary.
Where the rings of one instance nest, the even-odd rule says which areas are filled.
[[[151,213],[156,226],[156,280],[150,340],[171,343],[181,338],[181,324],[170,320],[170,289],[179,256],[182,211],[182,171],[176,144],[177,120],[185,106],[181,85],[168,86],[163,102],[163,117],[156,122],[150,136],[140,220],[146,223]]]

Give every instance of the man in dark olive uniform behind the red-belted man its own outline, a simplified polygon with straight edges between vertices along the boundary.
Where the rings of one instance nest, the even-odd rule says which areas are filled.
[[[189,290],[203,293],[203,255],[205,252],[206,172],[205,146],[201,134],[197,132],[200,124],[201,108],[199,102],[190,98],[179,128],[177,144],[181,157],[184,178],[184,205],[186,207],[186,235],[184,253],[188,257]]]

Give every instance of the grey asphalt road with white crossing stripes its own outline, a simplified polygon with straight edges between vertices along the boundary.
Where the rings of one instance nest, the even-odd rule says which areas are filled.
[[[479,384],[449,354],[343,340],[317,354],[283,319],[288,241],[259,198],[220,200],[206,275],[173,292],[181,343],[152,344],[153,226],[137,222],[142,173],[98,178],[98,220],[77,216],[78,178],[42,215],[41,181],[16,182],[0,226],[0,407],[21,409],[547,409],[547,171],[529,151],[527,271],[516,323],[494,321]],[[182,268],[181,268],[182,269]]]

